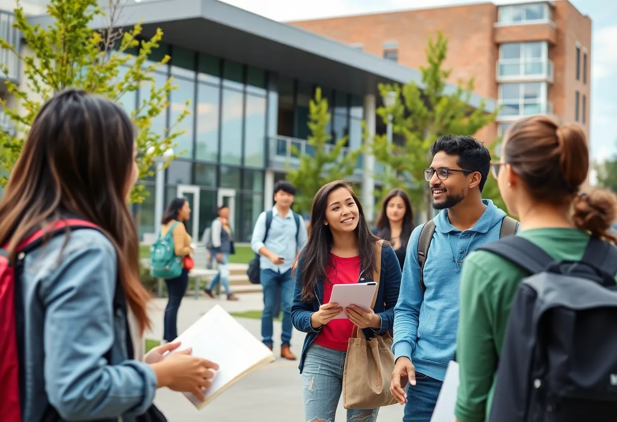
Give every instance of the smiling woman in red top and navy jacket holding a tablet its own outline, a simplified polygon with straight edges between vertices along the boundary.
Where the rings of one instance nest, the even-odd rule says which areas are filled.
[[[307,333],[300,358],[305,420],[333,421],[342,391],[343,368],[354,326],[367,339],[383,336],[394,326],[399,297],[399,260],[389,243],[381,252],[381,278],[374,309],[329,303],[334,284],[370,281],[375,270],[376,242],[362,205],[341,180],[315,195],[309,239],[296,268],[292,323]],[[341,312],[348,318],[334,319]],[[355,370],[356,368],[354,368]],[[366,370],[358,366],[358,371]],[[347,421],[375,422],[379,409],[347,410]]]

